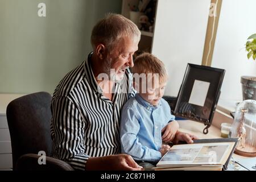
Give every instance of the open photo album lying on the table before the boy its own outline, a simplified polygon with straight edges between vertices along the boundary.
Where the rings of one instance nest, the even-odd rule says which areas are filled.
[[[238,138],[202,139],[193,144],[176,144],[160,159],[155,170],[225,170],[237,141]]]

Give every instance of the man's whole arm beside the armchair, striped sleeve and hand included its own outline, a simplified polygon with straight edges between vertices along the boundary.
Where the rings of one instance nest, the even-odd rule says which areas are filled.
[[[65,160],[79,170],[141,170],[129,155],[110,155],[91,158],[85,154],[86,123],[79,109],[67,97],[52,101],[53,156]]]

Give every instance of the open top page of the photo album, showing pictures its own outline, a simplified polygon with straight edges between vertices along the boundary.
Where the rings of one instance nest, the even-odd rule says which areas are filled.
[[[224,165],[228,160],[234,142],[195,143],[173,146],[156,164],[164,166]]]

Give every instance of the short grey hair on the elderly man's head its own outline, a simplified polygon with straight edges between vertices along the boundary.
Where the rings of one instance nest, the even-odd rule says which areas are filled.
[[[128,36],[135,42],[141,39],[141,31],[131,20],[119,14],[108,14],[94,26],[90,42],[93,49],[97,44],[104,44],[107,49],[112,49],[118,41]]]

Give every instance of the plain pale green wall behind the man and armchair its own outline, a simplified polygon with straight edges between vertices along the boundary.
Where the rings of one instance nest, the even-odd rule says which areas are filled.
[[[46,3],[46,17],[38,4]],[[53,93],[92,48],[90,32],[121,0],[0,0],[0,93]]]

